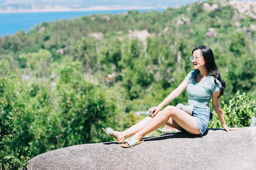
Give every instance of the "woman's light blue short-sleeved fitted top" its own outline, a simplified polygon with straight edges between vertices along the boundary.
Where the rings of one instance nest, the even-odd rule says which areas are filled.
[[[185,80],[189,83],[186,87],[186,91],[189,94],[188,104],[193,104],[197,108],[209,108],[209,102],[211,101],[212,93],[220,91],[221,83],[216,79],[216,84],[214,82],[214,77],[207,75],[201,82],[195,82],[195,75],[199,70],[191,71]]]

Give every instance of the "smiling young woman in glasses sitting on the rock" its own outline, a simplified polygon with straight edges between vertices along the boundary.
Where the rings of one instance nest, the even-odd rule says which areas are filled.
[[[198,46],[193,49],[190,61],[193,64],[194,71],[191,71],[184,81],[158,106],[148,109],[148,117],[122,132],[114,131],[111,128],[103,130],[118,143],[121,143],[122,147],[132,147],[143,142],[141,139],[146,134],[162,127],[164,124],[181,131],[185,130],[191,134],[202,135],[207,130],[211,97],[213,108],[220,119],[222,128],[228,133],[230,133],[229,130],[235,130],[227,126],[218,104],[226,83],[220,78],[213,52],[207,46]],[[183,108],[166,106],[161,110],[185,89],[189,94],[189,106],[183,106]],[[186,110],[190,108],[191,110]],[[131,135],[133,136],[128,138]]]

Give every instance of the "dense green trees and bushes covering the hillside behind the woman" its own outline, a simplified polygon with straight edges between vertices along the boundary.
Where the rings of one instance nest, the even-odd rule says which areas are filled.
[[[15,138],[3,140],[7,152],[29,146],[34,157],[109,140],[101,127],[127,128],[138,119],[134,111],[159,104],[182,82],[193,69],[189,57],[196,43],[213,50],[227,82],[221,104],[228,125],[248,126],[255,116],[255,19],[234,19],[236,9],[217,3],[213,11],[199,3],[88,15],[1,37],[0,114],[17,130]],[[210,28],[217,35],[208,36]],[[145,30],[148,37],[134,37]],[[186,102],[184,92],[171,104]],[[219,127],[212,113],[209,127]]]

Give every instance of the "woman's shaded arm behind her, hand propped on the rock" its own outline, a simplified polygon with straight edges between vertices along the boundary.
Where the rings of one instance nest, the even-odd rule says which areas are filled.
[[[221,126],[222,128],[224,128],[228,133],[229,130],[236,130],[235,128],[229,128],[225,122],[225,119],[223,117],[223,114],[222,114],[222,111],[220,109],[220,106],[219,106],[219,99],[220,99],[220,91],[216,91],[213,93],[213,100],[212,100],[212,105],[213,105],[213,108],[214,110],[216,111],[219,119],[220,119],[220,123],[221,123]]]

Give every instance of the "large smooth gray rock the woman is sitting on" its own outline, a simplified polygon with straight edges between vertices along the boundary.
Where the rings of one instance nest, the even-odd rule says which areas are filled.
[[[158,135],[132,148],[117,142],[70,146],[34,157],[28,170],[256,170],[256,127]]]

